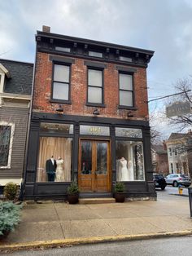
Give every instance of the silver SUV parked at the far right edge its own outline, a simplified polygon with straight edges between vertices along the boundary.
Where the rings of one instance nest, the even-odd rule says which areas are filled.
[[[178,187],[179,184],[189,187],[191,179],[186,174],[169,174],[166,178],[166,183],[173,187]]]

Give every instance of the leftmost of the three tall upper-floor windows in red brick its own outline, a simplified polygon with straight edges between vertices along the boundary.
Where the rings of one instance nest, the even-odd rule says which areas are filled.
[[[54,64],[52,99],[69,100],[70,66]]]

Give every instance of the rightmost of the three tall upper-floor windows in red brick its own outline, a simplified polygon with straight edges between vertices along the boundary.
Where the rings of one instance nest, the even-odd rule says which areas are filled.
[[[133,75],[119,73],[120,106],[133,107]]]

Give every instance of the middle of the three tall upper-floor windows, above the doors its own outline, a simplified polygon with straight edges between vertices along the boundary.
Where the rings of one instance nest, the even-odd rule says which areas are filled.
[[[103,104],[103,70],[88,69],[88,104]]]

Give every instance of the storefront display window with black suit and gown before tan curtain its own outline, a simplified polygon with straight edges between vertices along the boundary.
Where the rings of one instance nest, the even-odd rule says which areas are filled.
[[[71,181],[72,138],[40,137],[37,182]]]

